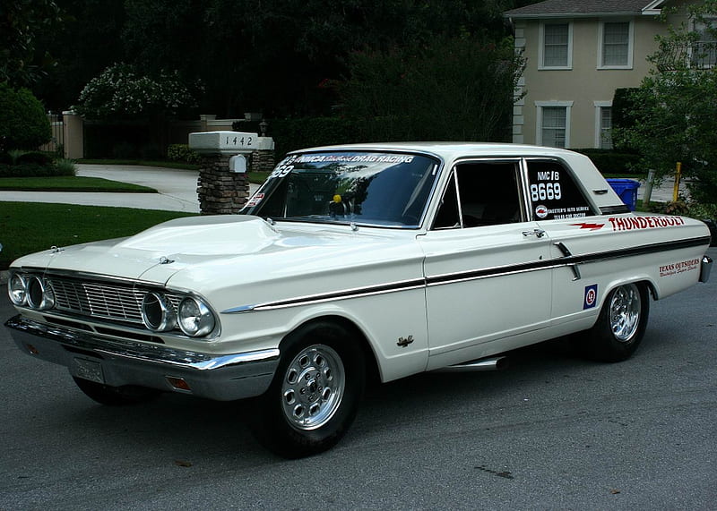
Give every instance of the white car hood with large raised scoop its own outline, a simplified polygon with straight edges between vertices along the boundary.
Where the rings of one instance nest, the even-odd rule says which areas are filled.
[[[349,226],[272,226],[245,215],[184,217],[153,226],[129,238],[84,243],[31,254],[13,266],[80,271],[109,277],[166,284],[170,277],[192,268],[231,268],[238,260],[259,255],[264,260],[334,259],[350,251],[376,249],[394,239],[388,233],[358,234]],[[395,231],[394,231],[395,232]],[[401,234],[400,237],[408,233]],[[368,238],[368,239],[367,239]],[[368,242],[368,243],[367,243]],[[389,243],[393,244],[393,243]]]

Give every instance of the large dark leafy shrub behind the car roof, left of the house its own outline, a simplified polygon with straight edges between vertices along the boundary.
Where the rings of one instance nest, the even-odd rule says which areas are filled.
[[[339,83],[342,113],[389,123],[381,139],[505,141],[523,58],[512,41],[463,34],[387,52],[357,52]],[[393,124],[393,125],[391,125]]]

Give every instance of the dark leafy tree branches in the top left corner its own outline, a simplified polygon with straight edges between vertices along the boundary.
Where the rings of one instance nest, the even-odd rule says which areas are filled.
[[[53,64],[46,52],[35,55],[36,38],[60,21],[52,0],[13,0],[0,6],[0,81],[15,87],[37,81],[43,68]]]

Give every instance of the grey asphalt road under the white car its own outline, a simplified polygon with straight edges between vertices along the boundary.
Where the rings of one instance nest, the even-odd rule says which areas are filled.
[[[714,509],[715,299],[713,278],[653,302],[627,362],[554,342],[374,388],[338,447],[293,462],[242,403],[95,405],[0,328],[0,509]]]

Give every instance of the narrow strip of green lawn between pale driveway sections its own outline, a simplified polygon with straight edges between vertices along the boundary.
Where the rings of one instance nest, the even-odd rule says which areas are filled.
[[[0,190],[20,192],[131,192],[157,193],[139,184],[119,183],[101,177],[0,177]]]

